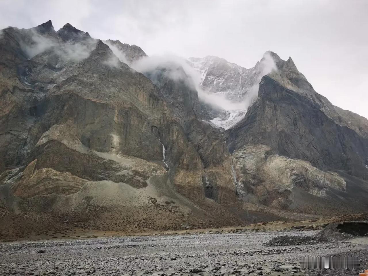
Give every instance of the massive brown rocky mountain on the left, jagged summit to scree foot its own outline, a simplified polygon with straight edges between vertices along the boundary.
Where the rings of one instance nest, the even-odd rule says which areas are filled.
[[[3,34],[1,227],[13,228],[2,235],[26,221],[29,231],[68,220],[132,232],[240,223],[219,205],[237,200],[221,132],[186,110],[195,91],[169,79],[158,88],[70,24]],[[145,55],[137,49],[131,61]],[[174,103],[163,94],[170,89],[192,98]]]

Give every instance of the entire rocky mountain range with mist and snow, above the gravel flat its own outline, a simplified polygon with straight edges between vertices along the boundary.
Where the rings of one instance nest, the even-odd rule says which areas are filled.
[[[367,172],[367,119],[290,58],[245,69],[148,57],[70,24],[2,30],[3,240],[365,212]]]

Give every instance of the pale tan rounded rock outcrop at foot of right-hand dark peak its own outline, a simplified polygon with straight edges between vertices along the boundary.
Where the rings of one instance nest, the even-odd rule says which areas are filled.
[[[266,145],[246,145],[233,153],[237,194],[244,201],[261,202],[276,209],[326,213],[338,208],[364,211],[347,196],[347,183],[334,171],[322,171],[300,159],[274,154]],[[301,200],[301,197],[304,198]],[[335,204],[334,201],[339,204]]]

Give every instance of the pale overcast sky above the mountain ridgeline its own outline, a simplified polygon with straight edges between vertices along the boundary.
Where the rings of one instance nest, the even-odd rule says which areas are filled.
[[[148,55],[214,55],[246,68],[271,50],[314,89],[368,118],[368,0],[0,0],[0,29],[51,19]]]

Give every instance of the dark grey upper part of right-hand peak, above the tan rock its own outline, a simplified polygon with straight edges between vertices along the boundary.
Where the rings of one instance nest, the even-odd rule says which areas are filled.
[[[348,121],[349,113],[317,94],[290,58],[273,55],[280,69],[262,78],[259,98],[229,130],[230,151],[246,143],[265,144],[319,169],[367,179],[367,119],[351,115],[355,120]]]

